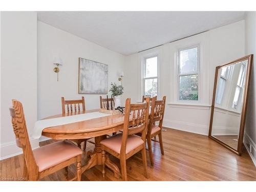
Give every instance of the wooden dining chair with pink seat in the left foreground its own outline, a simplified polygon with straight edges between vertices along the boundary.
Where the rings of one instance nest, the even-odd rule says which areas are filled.
[[[30,181],[39,180],[57,170],[65,168],[68,178],[68,166],[76,163],[77,181],[81,180],[81,155],[82,150],[70,141],[59,141],[48,144],[32,151],[22,103],[12,100],[13,108],[10,109],[13,131],[16,144],[22,148],[24,155],[24,178]],[[72,180],[74,180],[73,178]]]

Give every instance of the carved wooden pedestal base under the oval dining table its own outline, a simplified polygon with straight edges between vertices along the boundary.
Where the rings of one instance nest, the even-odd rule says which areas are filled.
[[[95,165],[102,165],[102,150],[100,141],[105,138],[106,135],[95,137],[94,151],[87,152],[87,157],[89,158],[89,161],[82,166],[82,173],[90,169],[91,167],[94,167]],[[105,156],[105,166],[109,167],[114,172],[115,178],[119,179],[120,170],[118,166],[110,160],[109,155]]]

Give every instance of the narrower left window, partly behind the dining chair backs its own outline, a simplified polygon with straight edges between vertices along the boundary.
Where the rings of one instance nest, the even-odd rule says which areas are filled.
[[[143,94],[151,97],[158,95],[158,55],[144,57]]]

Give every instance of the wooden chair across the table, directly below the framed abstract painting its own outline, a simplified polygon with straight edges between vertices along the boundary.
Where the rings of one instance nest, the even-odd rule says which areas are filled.
[[[66,114],[66,108],[68,114],[79,114],[81,111],[86,112],[86,103],[84,101],[84,97],[82,97],[81,100],[65,100],[64,97],[61,97],[61,104],[62,114]],[[83,142],[83,151],[86,151],[87,140],[88,139],[71,139],[71,141],[75,142],[79,148],[81,148],[81,143]]]

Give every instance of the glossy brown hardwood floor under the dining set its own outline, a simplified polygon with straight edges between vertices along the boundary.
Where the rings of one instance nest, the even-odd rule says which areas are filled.
[[[207,136],[167,129],[163,132],[164,156],[160,146],[152,142],[155,158],[154,167],[150,167],[147,152],[148,176],[143,175],[141,153],[127,160],[127,177],[132,181],[256,181],[256,167],[248,153],[244,150],[242,156],[237,156],[222,147]],[[40,146],[54,142],[41,142]],[[93,144],[87,144],[92,150]],[[83,155],[83,161],[86,162]],[[111,158],[119,167],[119,160]],[[18,155],[1,161],[1,176],[3,178],[22,177],[23,155]],[[82,174],[82,181],[116,181],[113,172],[105,168],[105,179],[101,174],[102,166],[96,166]],[[75,165],[69,167],[69,178],[75,175]],[[65,181],[65,170],[59,170],[42,180]],[[121,179],[119,179],[121,180]]]

